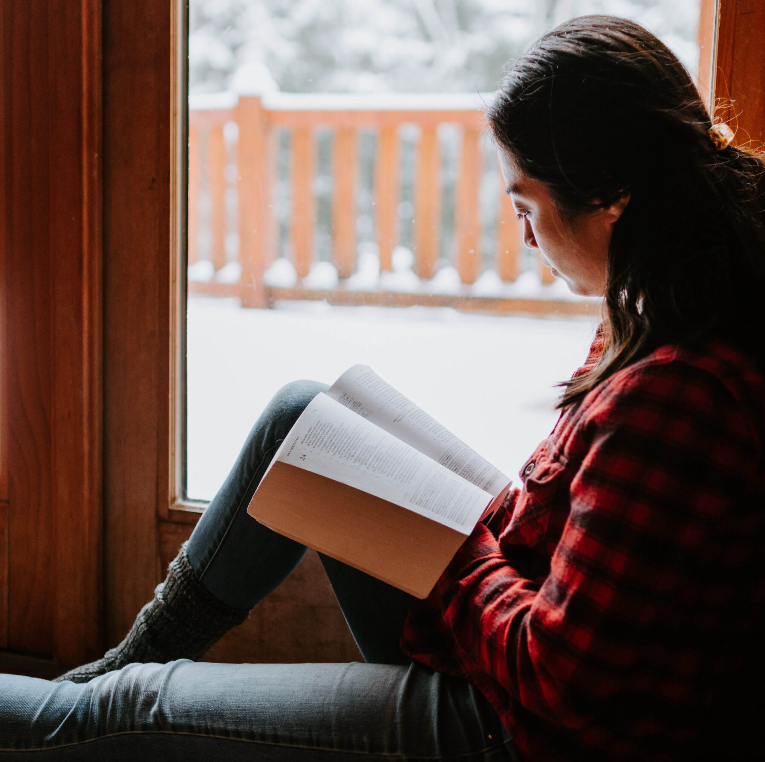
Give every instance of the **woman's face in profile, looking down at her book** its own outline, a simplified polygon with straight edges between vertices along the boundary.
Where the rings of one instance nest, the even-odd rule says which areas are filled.
[[[572,293],[602,296],[606,289],[608,247],[614,223],[629,196],[605,209],[595,209],[565,221],[547,186],[519,169],[513,157],[499,150],[506,193],[523,223],[526,246],[539,249],[542,262]]]

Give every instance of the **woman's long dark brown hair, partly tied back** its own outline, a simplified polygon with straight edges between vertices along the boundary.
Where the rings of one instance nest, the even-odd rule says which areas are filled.
[[[763,360],[763,162],[715,149],[666,45],[623,18],[567,21],[508,70],[487,119],[565,217],[630,195],[608,253],[604,352],[563,384],[561,407],[665,343],[718,335]]]

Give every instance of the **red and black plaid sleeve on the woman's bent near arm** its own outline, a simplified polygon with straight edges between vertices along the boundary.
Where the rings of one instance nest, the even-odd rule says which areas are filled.
[[[549,575],[522,577],[478,525],[425,604],[446,662],[571,730],[635,681],[759,458],[741,405],[680,362],[622,371],[584,401],[578,426],[584,454]],[[664,687],[682,700],[682,679]]]

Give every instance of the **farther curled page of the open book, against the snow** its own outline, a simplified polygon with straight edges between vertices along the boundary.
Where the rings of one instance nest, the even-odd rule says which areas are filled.
[[[383,381],[368,365],[354,365],[347,370],[327,395],[492,497],[500,495],[510,483],[487,459]]]

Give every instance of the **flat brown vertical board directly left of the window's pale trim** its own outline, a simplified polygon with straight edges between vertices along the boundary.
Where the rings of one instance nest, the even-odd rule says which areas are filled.
[[[169,494],[171,2],[103,15],[106,642],[160,575]]]

